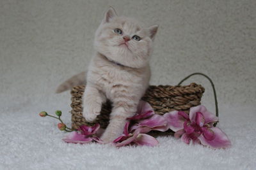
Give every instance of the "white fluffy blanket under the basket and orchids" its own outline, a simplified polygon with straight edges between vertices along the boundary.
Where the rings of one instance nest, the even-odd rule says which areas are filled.
[[[64,107],[64,106],[63,106]],[[0,169],[255,169],[256,109],[221,106],[220,124],[232,148],[189,146],[172,136],[159,145],[114,148],[67,144],[57,121],[39,117],[40,106],[0,115]],[[38,110],[36,112],[36,110]],[[66,110],[68,111],[68,110]],[[65,111],[64,111],[65,112]],[[63,120],[70,125],[69,113]]]

